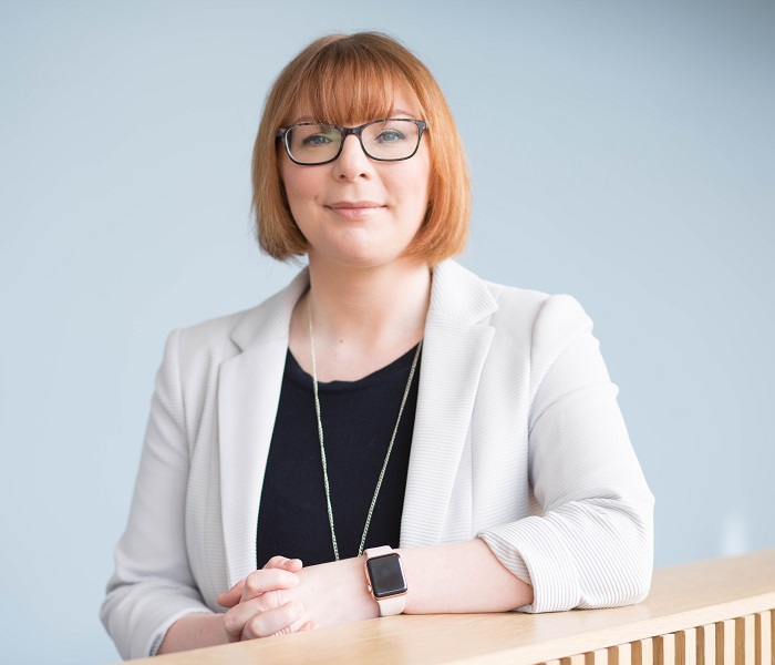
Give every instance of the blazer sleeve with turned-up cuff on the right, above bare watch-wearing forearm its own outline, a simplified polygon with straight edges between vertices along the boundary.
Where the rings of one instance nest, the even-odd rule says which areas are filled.
[[[540,513],[478,535],[533,585],[521,611],[637,603],[651,584],[653,497],[592,323],[571,297],[541,307],[530,368],[528,469]]]

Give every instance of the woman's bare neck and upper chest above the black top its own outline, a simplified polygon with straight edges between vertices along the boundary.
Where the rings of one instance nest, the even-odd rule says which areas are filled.
[[[310,290],[293,313],[291,351],[310,371],[311,313],[319,379],[356,380],[422,339],[430,299],[431,272],[416,260],[363,269],[310,256]]]

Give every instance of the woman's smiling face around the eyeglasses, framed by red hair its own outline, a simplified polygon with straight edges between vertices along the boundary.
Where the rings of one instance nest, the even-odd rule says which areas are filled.
[[[391,117],[422,120],[411,96],[396,92]],[[303,122],[304,113],[292,121]],[[375,117],[360,119],[358,124]],[[420,228],[428,204],[431,155],[426,139],[401,162],[378,162],[349,135],[329,164],[302,166],[280,155],[291,214],[309,243],[310,263],[376,267],[399,259]]]

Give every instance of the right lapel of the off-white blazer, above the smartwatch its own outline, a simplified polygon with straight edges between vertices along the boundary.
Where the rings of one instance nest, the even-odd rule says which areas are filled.
[[[402,546],[441,541],[466,442],[497,303],[489,288],[462,266],[434,269],[420,374],[404,511]]]

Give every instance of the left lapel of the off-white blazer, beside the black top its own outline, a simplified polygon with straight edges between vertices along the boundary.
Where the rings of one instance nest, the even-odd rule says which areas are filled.
[[[264,472],[280,400],[293,307],[307,270],[248,313],[231,334],[241,352],[218,381],[220,498],[229,585],[256,570],[256,530]]]

